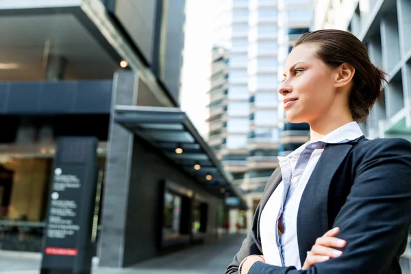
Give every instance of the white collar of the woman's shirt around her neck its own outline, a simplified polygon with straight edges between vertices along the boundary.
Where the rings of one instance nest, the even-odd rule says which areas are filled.
[[[321,142],[326,142],[328,144],[339,144],[343,142],[349,142],[352,140],[356,140],[357,138],[360,138],[364,134],[362,133],[362,130],[360,126],[358,125],[357,122],[350,122],[347,123],[341,127],[338,127],[338,129],[334,129],[332,132],[329,134],[325,135],[323,138],[321,138]],[[284,162],[292,157],[296,157],[303,151],[307,145],[309,145],[311,142],[308,141],[305,144],[301,145],[298,149],[295,151],[292,151],[292,153],[286,155],[286,156],[278,156],[279,162]]]

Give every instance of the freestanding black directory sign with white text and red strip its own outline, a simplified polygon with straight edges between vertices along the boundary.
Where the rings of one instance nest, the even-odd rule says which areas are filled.
[[[41,274],[90,273],[97,139],[58,140],[49,195]]]

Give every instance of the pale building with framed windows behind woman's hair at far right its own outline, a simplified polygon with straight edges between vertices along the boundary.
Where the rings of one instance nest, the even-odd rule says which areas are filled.
[[[349,20],[339,22],[337,2],[328,5],[327,14],[318,27],[345,29],[356,35],[369,50],[371,61],[388,73],[384,104],[375,103],[369,118],[361,124],[367,138],[405,138],[411,140],[411,40],[408,27],[411,2],[408,0],[344,0],[341,7],[351,10]],[[333,19],[334,18],[334,19]],[[410,240],[408,241],[410,242]],[[403,273],[411,272],[411,250],[400,260]]]

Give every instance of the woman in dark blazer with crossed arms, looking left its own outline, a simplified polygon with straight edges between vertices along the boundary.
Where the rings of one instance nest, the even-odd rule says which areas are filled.
[[[278,91],[288,120],[310,124],[310,142],[279,158],[226,273],[401,273],[411,144],[367,140],[357,124],[382,97],[383,81],[349,32],[299,38]]]

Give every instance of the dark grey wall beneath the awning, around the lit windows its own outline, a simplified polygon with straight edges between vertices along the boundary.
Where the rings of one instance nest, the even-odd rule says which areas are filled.
[[[218,199],[204,190],[175,165],[134,138],[132,171],[129,184],[127,225],[125,229],[124,265],[134,264],[158,255],[158,201],[162,199],[160,182],[169,179],[201,195],[208,202],[208,237],[216,234]],[[162,216],[160,216],[161,218]]]

